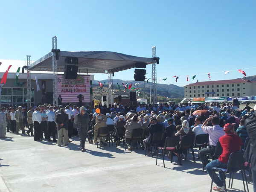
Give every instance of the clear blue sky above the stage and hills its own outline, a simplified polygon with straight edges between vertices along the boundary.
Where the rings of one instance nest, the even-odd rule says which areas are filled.
[[[156,46],[157,79],[188,83],[236,79],[256,67],[256,1],[253,0],[56,0],[1,1],[0,58],[37,60],[58,38],[63,51],[114,51],[151,57]],[[256,68],[244,70],[255,75]],[[151,66],[147,67],[150,78]],[[172,76],[180,76],[177,83]],[[190,81],[186,81],[189,75]],[[134,70],[115,73],[132,80]],[[96,74],[96,80],[107,79]]]

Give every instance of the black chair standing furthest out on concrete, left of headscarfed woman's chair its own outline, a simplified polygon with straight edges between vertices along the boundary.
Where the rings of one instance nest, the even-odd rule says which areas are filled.
[[[172,155],[171,155],[171,163],[172,163],[173,152],[175,151],[175,149],[177,149],[179,141],[180,141],[180,137],[176,137],[176,136],[166,137],[164,147],[157,147],[157,157],[158,157],[159,150],[162,150],[163,167],[164,168],[165,168],[164,153],[165,152],[171,152],[172,153]],[[179,151],[177,151],[177,157],[178,157],[178,162],[180,164],[180,153],[179,153]],[[157,165],[157,160],[156,160],[156,165]]]

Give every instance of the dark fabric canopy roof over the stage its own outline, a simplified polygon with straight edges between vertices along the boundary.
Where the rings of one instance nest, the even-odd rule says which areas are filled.
[[[42,58],[30,64],[27,70],[52,71],[52,56],[49,52]],[[136,63],[152,64],[152,58],[136,57],[109,51],[60,51],[58,72],[64,72],[65,58],[78,58],[79,73],[114,73],[135,67]]]

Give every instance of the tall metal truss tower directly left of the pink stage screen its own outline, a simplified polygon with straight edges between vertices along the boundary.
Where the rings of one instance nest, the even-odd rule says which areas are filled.
[[[57,37],[52,38],[52,49],[57,50]],[[53,106],[58,105],[58,61],[56,60],[58,52],[52,52],[52,82],[53,82]]]

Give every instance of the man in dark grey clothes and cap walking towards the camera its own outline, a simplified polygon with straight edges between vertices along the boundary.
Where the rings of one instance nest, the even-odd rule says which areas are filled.
[[[76,115],[74,123],[76,124],[76,128],[80,137],[80,146],[81,146],[81,152],[84,152],[84,143],[87,135],[87,131],[89,128],[89,115],[88,113],[85,113],[85,107],[80,108],[80,113]]]

